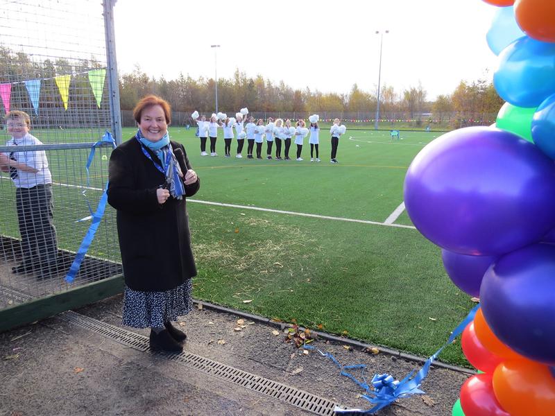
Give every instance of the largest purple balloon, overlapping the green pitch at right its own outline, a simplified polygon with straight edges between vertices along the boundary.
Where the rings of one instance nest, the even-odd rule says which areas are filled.
[[[435,139],[414,158],[404,205],[424,236],[452,252],[496,256],[555,227],[555,164],[528,141],[469,127]]]

